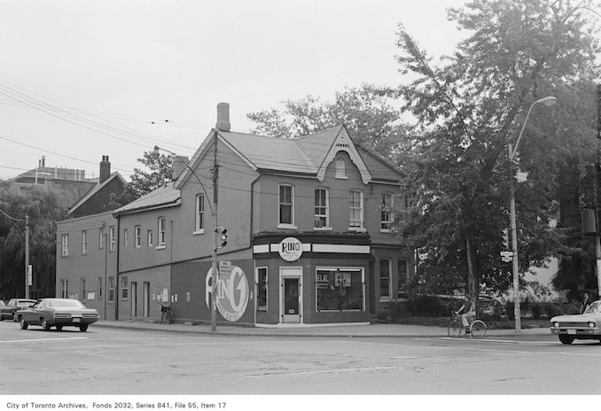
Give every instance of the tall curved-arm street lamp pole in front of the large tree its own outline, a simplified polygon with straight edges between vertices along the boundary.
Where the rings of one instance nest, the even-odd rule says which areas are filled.
[[[536,100],[533,104],[528,108],[528,112],[526,114],[526,119],[524,119],[524,124],[522,125],[521,130],[519,131],[518,140],[515,143],[515,148],[511,147],[511,143],[508,144],[509,149],[509,160],[511,167],[511,178],[510,178],[510,200],[509,200],[509,209],[510,209],[510,229],[511,229],[511,250],[513,252],[513,260],[512,260],[512,272],[513,272],[513,315],[515,317],[515,332],[521,332],[521,319],[520,319],[520,310],[519,310],[519,265],[518,265],[518,233],[516,229],[516,215],[515,215],[515,181],[514,173],[513,173],[513,160],[516,157],[516,153],[518,152],[519,141],[522,138],[522,134],[524,133],[524,128],[526,128],[526,124],[528,121],[528,117],[530,117],[530,112],[532,112],[532,107],[537,104],[542,104],[546,106],[554,105],[557,101],[556,97],[543,97],[539,100]]]

